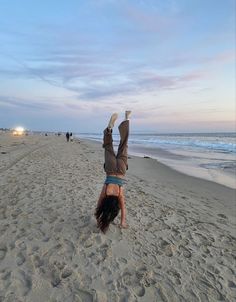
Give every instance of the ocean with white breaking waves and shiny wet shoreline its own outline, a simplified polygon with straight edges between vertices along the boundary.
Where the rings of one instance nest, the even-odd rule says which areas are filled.
[[[102,143],[102,133],[77,137]],[[113,134],[114,146],[119,134]],[[129,154],[152,157],[188,175],[236,188],[236,133],[131,133]]]

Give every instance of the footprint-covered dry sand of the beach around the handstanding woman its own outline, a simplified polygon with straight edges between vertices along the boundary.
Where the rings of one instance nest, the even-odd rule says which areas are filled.
[[[236,300],[236,191],[129,158],[129,229],[93,213],[101,144],[0,134],[0,301]]]

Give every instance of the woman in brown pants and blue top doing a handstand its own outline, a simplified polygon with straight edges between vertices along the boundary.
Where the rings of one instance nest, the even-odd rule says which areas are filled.
[[[120,132],[120,144],[117,155],[113,149],[112,128],[118,118],[113,113],[108,127],[103,132],[103,148],[105,149],[106,179],[97,202],[95,217],[97,226],[105,233],[110,223],[116,218],[121,210],[120,227],[127,228],[126,208],[124,197],[124,177],[128,169],[128,137],[129,137],[129,116],[131,111],[125,112],[125,120],[121,122],[118,129]]]

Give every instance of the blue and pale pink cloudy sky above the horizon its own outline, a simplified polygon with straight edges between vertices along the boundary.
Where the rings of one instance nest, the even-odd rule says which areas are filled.
[[[235,0],[0,0],[0,127],[235,125]]]

